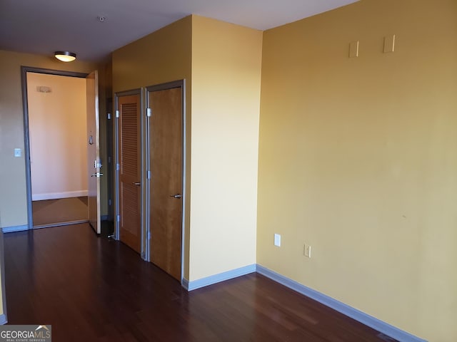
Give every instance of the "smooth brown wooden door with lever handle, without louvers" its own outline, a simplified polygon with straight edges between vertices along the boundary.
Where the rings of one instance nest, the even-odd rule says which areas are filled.
[[[181,281],[183,107],[181,88],[149,93],[151,262]]]

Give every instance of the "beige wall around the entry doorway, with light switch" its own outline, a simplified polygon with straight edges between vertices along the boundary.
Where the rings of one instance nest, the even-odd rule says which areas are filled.
[[[93,63],[56,61],[52,56],[0,51],[0,212],[3,227],[27,224],[24,153],[14,157],[14,148],[24,151],[21,66],[89,73]]]

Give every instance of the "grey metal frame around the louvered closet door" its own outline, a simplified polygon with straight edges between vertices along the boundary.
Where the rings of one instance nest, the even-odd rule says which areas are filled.
[[[144,123],[144,95],[141,91],[141,88],[131,89],[131,90],[124,90],[114,93],[114,239],[119,240],[121,239],[121,232],[120,232],[120,212],[119,212],[119,172],[120,172],[120,165],[119,165],[119,98],[124,96],[131,96],[131,95],[140,95],[140,177],[141,177],[141,209],[140,209],[140,232],[141,232],[141,259],[145,259],[145,250],[144,250],[144,242],[146,241],[146,231],[144,229],[144,220],[146,219],[145,209],[146,209],[146,201],[144,200],[146,195],[146,190],[144,188],[145,180],[145,160],[144,160],[144,140],[146,139],[146,125]],[[146,259],[145,259],[146,260]]]

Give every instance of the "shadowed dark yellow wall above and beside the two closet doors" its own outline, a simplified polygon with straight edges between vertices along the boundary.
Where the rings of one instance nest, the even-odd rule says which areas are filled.
[[[192,19],[187,16],[159,31],[119,48],[113,53],[113,91],[131,90],[177,80],[186,80],[186,125],[191,118],[191,33]],[[190,153],[187,135],[186,155]],[[189,202],[190,163],[187,172]],[[189,206],[186,207],[186,252],[189,251]],[[189,253],[184,255],[184,276],[189,278]]]

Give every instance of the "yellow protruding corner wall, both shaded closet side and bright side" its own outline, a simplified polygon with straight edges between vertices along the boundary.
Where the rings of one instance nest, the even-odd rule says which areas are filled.
[[[114,92],[186,79],[190,281],[256,261],[261,41],[261,31],[188,16],[113,53]]]

